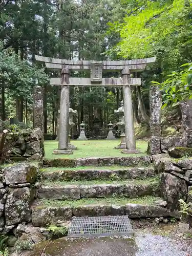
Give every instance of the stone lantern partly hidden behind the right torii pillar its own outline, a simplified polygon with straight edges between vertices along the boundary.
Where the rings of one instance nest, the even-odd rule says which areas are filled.
[[[125,140],[125,133],[124,133],[124,106],[123,106],[123,100],[121,101],[121,106],[118,110],[115,110],[114,111],[116,115],[119,116],[119,122],[117,123],[120,131],[121,131],[121,135],[120,135],[120,138],[121,138],[121,143],[116,146],[115,148],[116,149],[119,149],[119,148],[123,148],[125,149],[126,148],[126,140]]]

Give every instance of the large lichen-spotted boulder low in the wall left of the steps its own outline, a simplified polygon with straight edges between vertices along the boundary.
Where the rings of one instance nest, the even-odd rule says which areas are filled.
[[[9,188],[5,205],[6,225],[31,221],[32,191],[29,187]]]

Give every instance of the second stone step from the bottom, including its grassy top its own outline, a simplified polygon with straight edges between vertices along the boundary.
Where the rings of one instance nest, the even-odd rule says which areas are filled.
[[[69,200],[81,198],[104,198],[109,196],[158,196],[160,194],[159,178],[146,180],[112,181],[73,181],[46,182],[38,189],[38,198]]]

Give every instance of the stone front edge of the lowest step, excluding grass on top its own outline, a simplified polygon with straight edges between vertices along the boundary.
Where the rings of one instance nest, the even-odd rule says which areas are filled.
[[[121,216],[128,215],[130,218],[179,218],[178,212],[171,212],[157,205],[83,205],[77,207],[32,207],[33,226],[60,225],[75,217],[83,216]]]

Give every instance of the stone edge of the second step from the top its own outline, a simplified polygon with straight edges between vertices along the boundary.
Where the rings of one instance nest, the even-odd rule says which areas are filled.
[[[70,180],[122,180],[122,179],[145,179],[155,176],[153,167],[94,167],[61,168],[50,167],[41,169],[41,180],[70,181]]]

